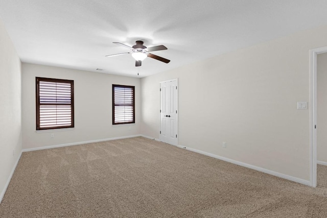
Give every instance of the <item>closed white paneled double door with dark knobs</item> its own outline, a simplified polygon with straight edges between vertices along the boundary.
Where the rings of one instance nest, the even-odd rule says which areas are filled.
[[[178,145],[178,80],[160,82],[160,141]]]

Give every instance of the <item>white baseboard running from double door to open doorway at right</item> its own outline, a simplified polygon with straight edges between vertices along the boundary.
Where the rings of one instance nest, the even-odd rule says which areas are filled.
[[[177,147],[182,148],[182,149],[186,149],[186,150],[189,150],[189,151],[192,151],[192,152],[196,152],[196,153],[199,153],[199,154],[203,154],[203,155],[206,155],[206,156],[209,156],[209,157],[213,157],[213,158],[216,158],[216,159],[219,159],[219,160],[223,160],[223,161],[226,161],[226,162],[229,162],[229,163],[234,163],[234,164],[237,164],[237,165],[240,165],[240,166],[244,166],[244,167],[247,167],[247,168],[250,168],[250,169],[254,169],[256,171],[260,171],[260,172],[270,174],[270,175],[273,175],[273,176],[276,176],[276,177],[287,179],[287,180],[297,182],[297,183],[300,183],[300,184],[303,184],[303,185],[308,185],[308,186],[311,185],[310,181],[308,181],[308,180],[299,179],[299,178],[296,178],[296,177],[292,177],[292,176],[288,176],[288,175],[285,175],[285,174],[277,173],[277,172],[274,172],[274,171],[270,171],[269,169],[261,168],[261,167],[258,167],[258,166],[253,166],[253,165],[250,165],[250,164],[247,164],[247,163],[243,163],[243,162],[240,162],[240,161],[237,161],[237,160],[232,160],[232,159],[229,159],[229,158],[221,157],[221,156],[211,154],[211,153],[208,153],[208,152],[203,152],[203,151],[200,151],[200,150],[197,150],[197,149],[192,149],[192,148],[188,148],[188,147],[180,146],[180,145],[178,145]]]

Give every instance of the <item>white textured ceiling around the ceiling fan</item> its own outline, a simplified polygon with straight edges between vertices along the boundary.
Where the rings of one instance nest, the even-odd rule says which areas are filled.
[[[22,62],[145,77],[327,25],[325,0],[0,0],[0,18]],[[112,42],[146,46],[170,59],[135,67]]]

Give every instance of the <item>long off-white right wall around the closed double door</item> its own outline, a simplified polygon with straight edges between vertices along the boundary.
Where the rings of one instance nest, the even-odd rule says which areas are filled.
[[[310,102],[309,50],[325,45],[327,26],[142,78],[142,134],[159,138],[159,82],[178,78],[181,146],[309,181],[297,102]]]

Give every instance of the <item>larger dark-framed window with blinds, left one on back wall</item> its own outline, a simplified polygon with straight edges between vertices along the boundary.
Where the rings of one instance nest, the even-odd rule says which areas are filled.
[[[36,77],[36,130],[74,127],[74,81]]]

